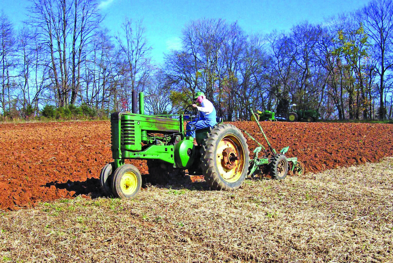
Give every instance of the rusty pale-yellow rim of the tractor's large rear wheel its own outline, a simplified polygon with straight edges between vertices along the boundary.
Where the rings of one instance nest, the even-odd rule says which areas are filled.
[[[230,152],[231,165],[224,164],[226,152]],[[237,159],[236,159],[237,158]],[[235,135],[228,134],[222,138],[217,146],[216,164],[221,177],[230,183],[236,182],[242,176],[244,169],[244,148],[239,138]]]

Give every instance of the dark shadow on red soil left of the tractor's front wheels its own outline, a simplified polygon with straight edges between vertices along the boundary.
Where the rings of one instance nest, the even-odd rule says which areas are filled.
[[[68,180],[65,183],[59,183],[58,181],[47,182],[42,185],[42,187],[55,186],[56,189],[66,189],[75,193],[72,197],[76,197],[78,195],[90,195],[92,198],[105,196],[103,191],[101,190],[101,186],[98,178],[87,178],[86,181],[71,181]]]

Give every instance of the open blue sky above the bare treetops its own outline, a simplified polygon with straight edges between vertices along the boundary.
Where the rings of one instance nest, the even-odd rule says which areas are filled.
[[[369,0],[99,0],[106,15],[103,26],[114,35],[125,17],[143,19],[152,57],[163,62],[163,53],[180,47],[182,28],[198,18],[238,21],[247,33],[287,31],[301,21],[320,23],[324,18],[363,7]],[[28,0],[0,0],[0,9],[16,25],[27,15]]]

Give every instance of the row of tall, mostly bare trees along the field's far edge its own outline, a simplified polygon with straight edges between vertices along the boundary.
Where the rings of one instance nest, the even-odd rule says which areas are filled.
[[[137,90],[150,114],[182,112],[203,91],[226,120],[249,119],[249,109],[285,115],[290,104],[328,120],[393,118],[391,0],[266,35],[190,21],[162,65],[141,21],[126,18],[115,35],[102,21],[96,0],[32,0],[18,30],[2,12],[3,116],[35,116],[45,105],[130,110]]]

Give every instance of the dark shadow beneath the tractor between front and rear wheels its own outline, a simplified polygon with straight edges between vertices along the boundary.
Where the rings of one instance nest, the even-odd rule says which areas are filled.
[[[198,179],[196,181],[191,180],[188,175],[184,177],[178,177],[176,179],[169,180],[167,182],[157,182],[149,176],[149,174],[142,175],[142,188],[148,188],[154,186],[156,188],[166,189],[189,189],[191,191],[211,191],[212,189],[205,180]]]

